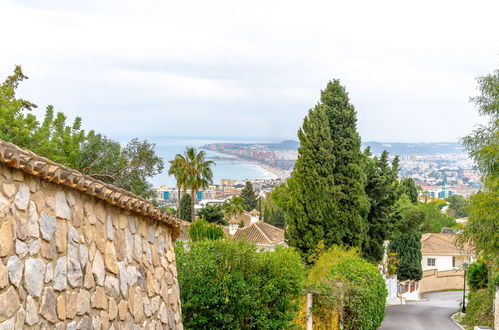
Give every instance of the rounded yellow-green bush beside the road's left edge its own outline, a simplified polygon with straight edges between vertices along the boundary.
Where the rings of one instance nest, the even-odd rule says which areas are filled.
[[[355,249],[333,246],[309,272],[314,309],[332,308],[343,329],[377,329],[385,315],[386,286],[378,268]]]

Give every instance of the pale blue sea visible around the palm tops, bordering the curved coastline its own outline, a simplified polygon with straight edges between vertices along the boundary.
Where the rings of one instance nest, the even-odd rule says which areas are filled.
[[[181,154],[185,151],[187,147],[194,147],[198,150],[200,147],[210,144],[210,143],[230,143],[230,142],[242,142],[242,143],[252,143],[252,142],[269,142],[269,141],[259,141],[259,140],[224,140],[224,139],[179,139],[179,138],[149,138],[149,142],[156,144],[156,154],[163,158],[165,162],[165,169],[163,173],[150,179],[150,182],[154,187],[159,187],[161,185],[167,185],[168,187],[175,187],[175,178],[168,175],[169,160],[175,158],[176,154]],[[270,141],[273,142],[273,141]],[[212,152],[209,150],[204,150],[207,157],[224,157],[233,158],[225,154],[220,154]],[[214,160],[215,166],[213,167],[213,183],[220,184],[221,179],[232,179],[232,180],[255,180],[255,179],[276,179],[277,176],[260,167],[256,163],[247,162],[244,160]]]

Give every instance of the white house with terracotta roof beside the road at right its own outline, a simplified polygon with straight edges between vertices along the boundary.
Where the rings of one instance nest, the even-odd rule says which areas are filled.
[[[471,255],[456,244],[457,235],[450,233],[426,233],[421,236],[423,271],[453,270],[463,262],[470,262]]]

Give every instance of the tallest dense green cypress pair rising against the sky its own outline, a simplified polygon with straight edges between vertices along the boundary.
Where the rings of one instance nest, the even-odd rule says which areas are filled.
[[[369,201],[356,128],[356,111],[338,80],[329,82],[321,102],[298,131],[299,156],[278,206],[286,212],[286,237],[306,257],[326,246],[361,246]]]

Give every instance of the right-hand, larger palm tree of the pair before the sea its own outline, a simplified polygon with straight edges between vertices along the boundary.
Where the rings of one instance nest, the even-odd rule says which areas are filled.
[[[194,221],[194,198],[200,189],[206,189],[213,183],[212,160],[205,160],[204,151],[197,152],[195,148],[187,147],[184,152],[187,160],[186,184],[191,188],[191,219]]]

